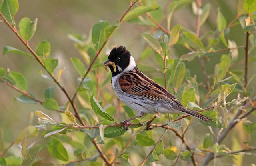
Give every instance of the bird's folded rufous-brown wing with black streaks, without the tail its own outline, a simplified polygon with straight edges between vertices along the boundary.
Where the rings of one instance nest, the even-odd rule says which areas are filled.
[[[137,68],[119,78],[122,91],[152,100],[182,105],[170,92],[144,75]]]

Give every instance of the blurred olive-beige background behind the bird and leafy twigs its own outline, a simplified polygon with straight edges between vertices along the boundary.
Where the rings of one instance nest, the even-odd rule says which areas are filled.
[[[164,8],[165,4],[169,0],[157,0],[156,2]],[[70,57],[81,57],[78,50],[74,47],[74,42],[68,38],[68,34],[76,33],[90,37],[92,26],[99,20],[107,20],[110,24],[115,24],[124,11],[129,6],[129,0],[20,0],[20,8],[16,14],[15,20],[18,22],[24,16],[27,16],[31,20],[38,18],[37,31],[30,40],[31,47],[35,50],[37,44],[46,39],[51,44],[51,56],[52,58],[59,59],[58,69],[66,67],[62,74],[61,82],[66,87],[69,94],[73,94],[76,88],[76,71],[73,68]],[[209,30],[216,29],[216,17],[217,8],[220,7],[222,14],[229,23],[236,17],[238,0],[202,0],[202,4],[210,3],[212,5],[210,15],[206,23],[202,26],[200,34]],[[176,12],[174,12],[171,26],[175,24],[181,24],[182,26],[195,31],[196,30],[196,16],[192,12],[191,6],[186,6]],[[163,22],[163,26],[166,26],[166,22]],[[112,36],[108,48],[111,49],[116,45],[124,45],[132,53],[135,58],[139,58],[143,46],[145,44],[142,39],[141,33],[150,32],[150,28],[147,26],[135,25],[130,23],[123,24],[116,33]],[[231,28],[228,38],[236,41],[238,46],[245,44],[245,34],[240,25]],[[206,42],[206,41],[204,41]],[[26,48],[11,32],[11,30],[0,22],[0,50],[3,46],[13,46],[24,52],[27,52]],[[186,52],[185,48],[176,49],[172,52],[173,57],[178,57]],[[105,50],[106,51],[106,50]],[[208,74],[214,73],[214,65],[219,62],[220,55],[211,57],[209,62],[206,62]],[[107,57],[107,56],[106,56]],[[152,56],[153,57],[153,56]],[[239,49],[239,59],[244,58],[244,50]],[[146,64],[156,63],[152,60],[144,60]],[[192,62],[185,62],[186,68],[190,68],[191,75],[196,74],[198,82],[204,82],[202,70],[200,70],[198,60]],[[195,67],[196,66],[196,67]],[[255,63],[250,63],[249,76],[255,73]],[[0,67],[9,68],[13,71],[21,72],[28,83],[28,92],[32,92],[38,99],[43,100],[44,89],[52,85],[52,82],[46,80],[40,76],[39,70],[42,67],[38,62],[17,54],[8,54],[0,56]],[[236,68],[243,68],[243,65],[238,65]],[[149,75],[152,73],[148,73]],[[154,73],[152,74],[154,76]],[[250,84],[250,88],[255,85],[255,79]],[[204,94],[204,89],[200,89]],[[60,105],[66,103],[67,99],[55,86],[56,100]],[[15,92],[5,84],[0,84],[0,126],[4,130],[4,140],[11,142],[18,136],[19,132],[28,126],[28,119],[30,112],[34,110],[42,110],[53,118],[58,119],[59,115],[52,111],[45,110],[40,105],[22,104],[14,100],[14,97],[19,96],[18,92]],[[235,97],[235,96],[232,96]],[[253,120],[255,122],[255,120]],[[34,120],[34,124],[36,124]],[[202,134],[206,129],[205,126],[199,126],[192,132],[198,132]],[[194,133],[190,133],[194,134]],[[234,132],[239,137],[237,132]],[[234,136],[234,135],[233,135]],[[38,141],[42,141],[42,136],[38,138]],[[231,144],[228,138],[224,141],[224,144],[229,146]],[[232,160],[231,158],[223,158],[222,160]],[[244,165],[256,163],[256,160],[252,156],[244,157]]]

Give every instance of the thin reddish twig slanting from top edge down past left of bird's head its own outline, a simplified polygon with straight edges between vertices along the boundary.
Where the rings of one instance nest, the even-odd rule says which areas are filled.
[[[138,0],[134,1],[132,4],[130,4],[129,8],[126,10],[126,12],[122,15],[122,17],[120,18],[120,25],[122,24],[122,20],[124,18],[124,16],[126,16],[126,14],[129,12],[129,10],[132,8],[132,6],[134,6],[134,4],[136,4],[136,2],[138,2]],[[86,73],[84,74],[84,76],[82,77],[82,80],[80,82],[80,84],[78,85],[78,87],[82,86],[82,83],[84,82],[84,79],[86,78],[86,76],[88,75],[88,73],[90,72],[91,68],[92,68],[92,65],[94,64],[95,60],[98,58],[100,52],[102,51],[102,49],[104,48],[104,46],[106,45],[106,43],[108,42],[108,40],[110,39],[110,36],[108,38],[106,38],[106,40],[104,41],[104,43],[102,44],[100,50],[98,50],[96,52],[96,55],[94,56],[94,59],[92,60],[91,64],[89,65],[88,69],[86,70]],[[72,97],[72,100],[71,100],[71,103],[74,103],[74,100],[76,98],[76,95],[77,95],[77,90],[76,92],[74,93],[73,97]]]

